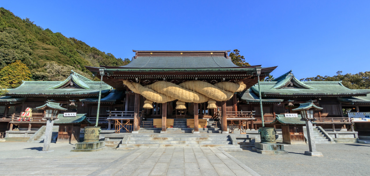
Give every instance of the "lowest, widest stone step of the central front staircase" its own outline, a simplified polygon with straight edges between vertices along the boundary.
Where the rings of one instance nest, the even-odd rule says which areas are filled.
[[[231,144],[126,144],[125,147],[211,147],[211,148],[240,148],[239,145],[231,145]]]

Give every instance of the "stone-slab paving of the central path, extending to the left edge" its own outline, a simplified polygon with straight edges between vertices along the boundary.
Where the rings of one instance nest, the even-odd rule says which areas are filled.
[[[107,159],[101,155],[97,159],[84,158],[85,152],[79,153],[77,157],[71,155],[60,159],[58,156],[53,159],[41,155],[0,159],[0,175],[259,176],[233,156],[217,148],[152,147],[125,153],[107,150],[104,153],[86,153],[106,155]],[[109,159],[107,155],[116,157]]]

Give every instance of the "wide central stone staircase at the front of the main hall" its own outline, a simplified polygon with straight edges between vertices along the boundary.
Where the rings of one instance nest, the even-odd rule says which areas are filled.
[[[242,151],[233,145],[227,134],[132,134],[125,137],[117,149],[130,150],[141,147],[208,147],[225,151]]]

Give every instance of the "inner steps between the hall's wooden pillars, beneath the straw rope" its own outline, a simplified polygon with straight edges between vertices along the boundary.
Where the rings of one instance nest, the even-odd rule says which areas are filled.
[[[153,121],[152,119],[148,119],[148,121]],[[208,124],[212,124],[212,120],[209,120],[208,121]],[[211,128],[211,126],[207,126],[207,128],[199,128],[199,132],[201,133],[222,133],[221,132],[221,128],[219,123],[217,125],[218,128]],[[140,125],[140,130],[139,130],[139,133],[143,133],[143,132],[156,132],[156,133],[159,133],[162,131],[162,128],[153,128],[150,127],[143,127],[143,122],[141,122],[141,125]],[[174,126],[173,128],[167,128],[166,130],[167,132],[185,132],[185,133],[192,133],[192,131],[194,131],[194,128],[188,128],[186,126],[186,119],[184,118],[178,118],[178,119],[174,119]]]

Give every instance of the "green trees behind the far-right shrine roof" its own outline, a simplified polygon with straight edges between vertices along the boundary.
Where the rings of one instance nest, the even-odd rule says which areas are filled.
[[[342,71],[338,71],[334,76],[307,77],[300,79],[301,81],[342,81],[343,86],[349,89],[370,89],[370,71],[359,72],[356,74],[347,73],[342,75]]]

